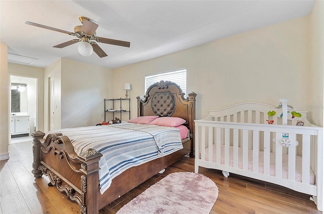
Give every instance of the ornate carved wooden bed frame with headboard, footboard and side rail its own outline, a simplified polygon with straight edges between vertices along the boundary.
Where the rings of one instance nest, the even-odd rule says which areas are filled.
[[[137,97],[138,116],[158,115],[179,117],[186,120],[189,138],[183,140],[183,149],[167,156],[154,159],[138,167],[132,167],[112,179],[111,186],[103,193],[99,190],[99,160],[102,154],[94,149],[77,155],[67,136],[36,131],[33,137],[33,170],[35,178],[47,175],[50,186],[76,201],[80,213],[99,213],[104,206],[132,190],[159,171],[190,153],[194,156],[195,96],[194,92],[184,98],[180,87],[170,81],[151,85],[144,97]]]

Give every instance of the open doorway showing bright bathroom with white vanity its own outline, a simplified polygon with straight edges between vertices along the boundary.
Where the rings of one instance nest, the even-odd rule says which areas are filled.
[[[32,141],[37,130],[37,78],[10,75],[10,143]]]

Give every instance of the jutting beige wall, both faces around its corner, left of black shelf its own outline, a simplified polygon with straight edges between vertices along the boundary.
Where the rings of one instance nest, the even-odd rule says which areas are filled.
[[[49,131],[49,78],[54,77],[54,129],[93,126],[104,120],[113,95],[111,69],[61,58],[45,69],[45,131]]]

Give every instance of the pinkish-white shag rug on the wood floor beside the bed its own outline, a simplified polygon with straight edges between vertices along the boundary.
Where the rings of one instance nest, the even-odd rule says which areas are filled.
[[[218,187],[208,177],[190,172],[172,173],[121,207],[117,214],[207,214],[217,196]]]

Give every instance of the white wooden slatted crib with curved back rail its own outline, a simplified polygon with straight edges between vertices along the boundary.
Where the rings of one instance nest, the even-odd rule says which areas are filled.
[[[222,170],[225,177],[234,173],[278,184],[311,195],[322,210],[323,129],[308,122],[307,112],[293,119],[288,113],[288,125],[279,125],[279,114],[267,115],[274,108],[246,102],[195,120],[195,173],[205,167]],[[289,135],[288,147],[280,143],[283,133]]]

